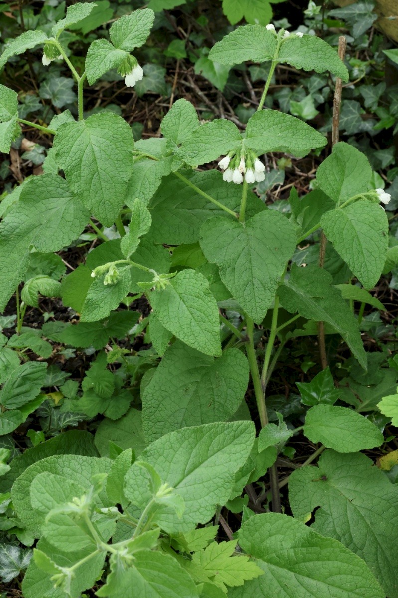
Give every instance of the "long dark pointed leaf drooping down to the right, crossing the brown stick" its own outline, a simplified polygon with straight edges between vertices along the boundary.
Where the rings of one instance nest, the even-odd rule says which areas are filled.
[[[292,265],[289,280],[278,288],[281,306],[307,320],[327,322],[341,334],[353,355],[366,368],[366,354],[359,326],[341,293],[332,286],[332,276],[317,266]]]

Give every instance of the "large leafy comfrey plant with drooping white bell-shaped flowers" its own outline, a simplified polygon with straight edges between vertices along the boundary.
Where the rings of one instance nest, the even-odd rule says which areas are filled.
[[[328,368],[300,386],[302,426],[289,428],[275,411],[278,425],[270,423],[267,409],[267,385],[283,347],[295,335],[316,335],[319,322],[336,340],[334,350],[347,345],[357,370],[366,370],[363,309],[356,318],[351,307],[374,305],[368,291],[391,267],[379,205],[390,198],[373,188],[371,167],[356,148],[335,144],[317,170],[316,188],[305,197],[293,188],[289,213],[268,208],[253,191],[264,179],[267,152],[302,157],[327,144],[304,121],[263,109],[275,67],[329,71],[347,81],[344,63],[315,36],[240,27],[209,57],[224,65],[270,61],[246,130],[228,120],[200,124],[194,106],[179,99],[163,118],[162,136],[134,144],[117,114],[84,117],[84,87],[111,69],[126,86],[143,77],[145,66],[131,52],[145,43],[154,13],[145,8],[114,22],[109,40],[90,45],[79,73],[63,31],[92,8],[72,5],[50,35],[23,33],[0,60],[2,67],[44,45],[44,64],[62,57],[78,89],[78,120],[65,111],[48,127],[28,123],[54,136],[53,146],[44,174],[5,199],[0,308],[25,280],[33,251],[60,251],[91,227],[102,242],[57,290],[66,306],[79,304],[80,322],[68,334],[103,330],[120,304],[143,296],[151,306],[148,336],[161,360],[143,378],[140,408],[127,399],[121,412],[112,411],[122,399],[112,395],[103,354],[84,382],[80,408],[85,401],[94,414],[128,418],[133,450],[111,443],[108,458],[92,456],[94,449],[91,456],[57,449],[30,460],[22,473],[11,468],[16,517],[38,539],[25,598],[78,598],[92,587],[97,596],[118,598],[398,596],[391,524],[397,492],[358,452],[382,443],[379,427],[360,407],[335,405],[341,395]],[[15,91],[2,86],[0,104],[0,148],[7,152],[27,121]],[[215,160],[223,175],[198,170]],[[114,223],[120,238],[107,240],[102,227]],[[316,242],[320,229],[337,266],[329,271],[326,260],[320,267],[315,244],[313,258],[308,253],[299,267],[301,244]],[[258,435],[244,402],[249,373]],[[11,392],[15,384],[11,374],[0,396],[3,433],[30,413],[25,395]],[[321,444],[289,478],[290,517],[281,513],[275,463],[299,431]],[[240,496],[264,477],[273,512],[256,513],[265,510],[258,497],[249,508]],[[241,513],[237,533],[221,515],[225,505]],[[228,541],[215,539],[220,522]]]

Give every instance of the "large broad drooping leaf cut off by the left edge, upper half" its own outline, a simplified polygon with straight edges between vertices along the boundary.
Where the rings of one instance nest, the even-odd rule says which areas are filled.
[[[19,202],[0,224],[1,311],[27,270],[30,246],[59,251],[79,236],[88,218],[65,179],[41,175],[27,181]]]

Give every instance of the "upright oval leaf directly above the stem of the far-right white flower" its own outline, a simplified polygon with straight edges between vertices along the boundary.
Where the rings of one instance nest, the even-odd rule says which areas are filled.
[[[320,189],[337,206],[371,188],[372,169],[368,158],[353,145],[340,141],[317,170]]]

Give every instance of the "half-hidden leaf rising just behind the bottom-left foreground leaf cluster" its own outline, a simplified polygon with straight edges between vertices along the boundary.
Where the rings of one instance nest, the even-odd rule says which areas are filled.
[[[117,444],[123,450],[133,449],[136,456],[142,453],[147,443],[142,430],[141,411],[131,408],[116,421],[103,419],[94,437],[94,443],[101,456],[109,455],[110,442]]]

